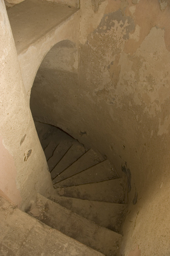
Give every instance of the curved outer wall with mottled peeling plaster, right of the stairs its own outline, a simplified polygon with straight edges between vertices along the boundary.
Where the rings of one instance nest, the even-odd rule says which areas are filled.
[[[78,72],[47,61],[32,87],[37,118],[127,175],[120,255],[170,254],[169,24],[169,1],[81,1]]]

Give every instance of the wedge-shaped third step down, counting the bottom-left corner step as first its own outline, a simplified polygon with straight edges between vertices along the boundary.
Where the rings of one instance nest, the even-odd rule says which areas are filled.
[[[53,200],[61,206],[115,232],[119,232],[127,213],[127,204],[122,203],[90,201],[64,196],[57,196]]]

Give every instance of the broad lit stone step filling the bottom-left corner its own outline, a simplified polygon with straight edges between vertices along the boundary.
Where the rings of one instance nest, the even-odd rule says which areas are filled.
[[[1,256],[104,256],[0,197]]]

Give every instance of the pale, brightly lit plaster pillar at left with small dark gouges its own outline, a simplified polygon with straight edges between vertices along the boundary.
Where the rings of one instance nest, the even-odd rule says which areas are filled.
[[[0,0],[0,194],[25,209],[52,182],[17,59],[6,9]]]

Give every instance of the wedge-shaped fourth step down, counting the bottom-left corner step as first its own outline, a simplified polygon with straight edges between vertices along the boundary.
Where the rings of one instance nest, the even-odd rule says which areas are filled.
[[[59,187],[56,191],[61,196],[74,197],[92,201],[125,203],[123,179],[111,179],[98,183]]]

